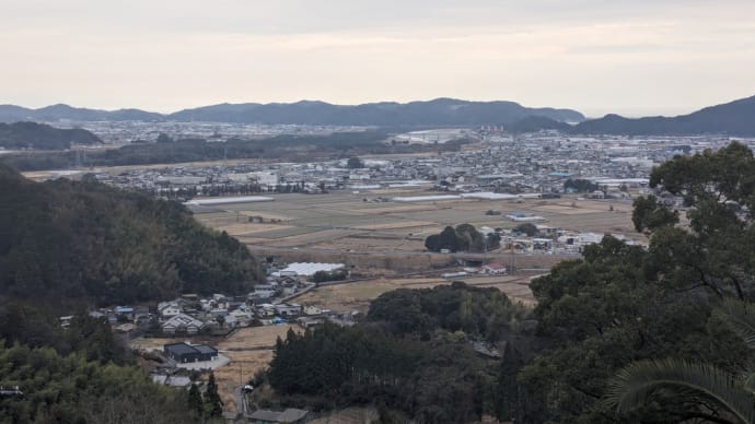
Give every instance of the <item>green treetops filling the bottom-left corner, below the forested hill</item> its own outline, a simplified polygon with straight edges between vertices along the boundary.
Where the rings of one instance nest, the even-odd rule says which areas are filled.
[[[191,422],[185,394],[135,366],[109,323],[78,314],[62,328],[49,308],[0,304],[0,421]],[[18,391],[15,388],[18,387]]]

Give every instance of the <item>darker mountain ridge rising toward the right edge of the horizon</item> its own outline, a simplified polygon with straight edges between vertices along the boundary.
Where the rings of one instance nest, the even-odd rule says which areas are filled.
[[[523,119],[514,122],[512,132],[559,129],[574,134],[625,136],[692,136],[730,134],[755,136],[755,96],[710,106],[676,117],[625,118],[611,114],[600,119],[582,121],[573,127],[548,119]],[[521,130],[521,131],[520,131]]]

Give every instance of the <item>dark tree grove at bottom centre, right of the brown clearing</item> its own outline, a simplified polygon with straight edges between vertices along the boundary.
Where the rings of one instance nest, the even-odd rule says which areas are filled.
[[[376,403],[422,423],[477,421],[497,411],[499,364],[471,341],[499,340],[523,315],[498,290],[458,282],[390,292],[356,327],[289,331],[276,344],[269,382],[330,408]]]

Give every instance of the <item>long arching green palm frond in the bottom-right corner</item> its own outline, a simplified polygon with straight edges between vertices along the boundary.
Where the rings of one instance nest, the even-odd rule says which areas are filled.
[[[733,375],[707,364],[640,361],[608,381],[605,402],[625,413],[641,407],[662,388],[678,388],[711,399],[742,423],[755,422],[755,400]]]

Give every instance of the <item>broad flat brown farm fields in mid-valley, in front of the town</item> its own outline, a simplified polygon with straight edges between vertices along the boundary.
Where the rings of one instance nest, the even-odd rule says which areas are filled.
[[[196,211],[196,217],[217,229],[226,231],[255,252],[280,255],[290,260],[359,262],[359,254],[380,257],[406,254],[407,260],[427,255],[425,238],[446,225],[469,223],[477,227],[513,228],[519,222],[511,213],[543,216],[537,224],[574,232],[623,233],[643,239],[631,224],[628,200],[519,199],[448,200],[397,203],[391,197],[423,196],[428,191],[393,190],[388,193],[345,192],[328,195],[271,195],[272,202],[219,204]],[[613,209],[613,210],[612,210]],[[498,210],[500,215],[486,215]],[[251,222],[251,217],[263,222]],[[500,252],[491,252],[493,258]],[[315,259],[314,257],[317,257]],[[324,258],[323,258],[324,257]],[[448,259],[448,258],[446,258]],[[420,258],[427,266],[438,259]],[[442,260],[441,260],[442,261]]]

